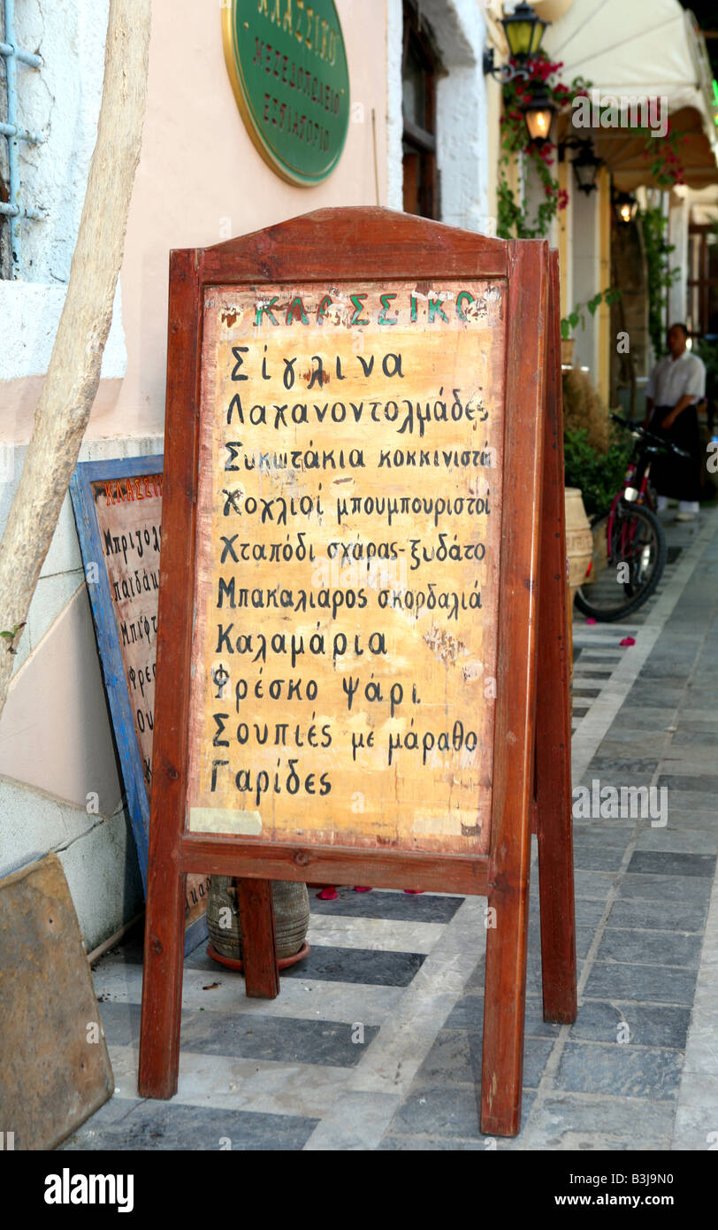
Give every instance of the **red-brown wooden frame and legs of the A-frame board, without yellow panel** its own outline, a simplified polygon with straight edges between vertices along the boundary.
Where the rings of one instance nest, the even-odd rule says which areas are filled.
[[[187,829],[188,718],[203,308],[215,285],[492,279],[505,287],[503,522],[488,856],[267,841]],[[488,897],[482,1132],[519,1130],[531,825],[538,833],[543,1006],[575,1017],[566,538],[557,263],[504,241],[375,208],[327,209],[171,253],[165,518],[139,1091],[177,1090],[182,884],[240,877],[246,991],[273,998],[272,879],[411,884]],[[537,645],[541,641],[538,686]],[[478,942],[477,936],[477,957]]]

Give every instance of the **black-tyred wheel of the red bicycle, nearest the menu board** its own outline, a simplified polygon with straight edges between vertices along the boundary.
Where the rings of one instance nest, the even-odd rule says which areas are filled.
[[[665,568],[665,533],[648,508],[625,503],[617,504],[612,515],[594,517],[591,533],[593,558],[575,605],[584,615],[610,624],[650,598]]]

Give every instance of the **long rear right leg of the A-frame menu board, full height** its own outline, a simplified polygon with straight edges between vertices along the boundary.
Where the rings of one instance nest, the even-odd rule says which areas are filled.
[[[558,263],[551,279],[558,304]],[[550,314],[551,315],[551,314]],[[569,629],[566,598],[566,504],[563,494],[563,413],[561,342],[554,332],[547,353],[546,442],[538,643],[541,673],[536,695],[536,831],[541,898],[541,964],[543,1018],[575,1021],[575,907],[573,887],[573,820],[570,790]]]

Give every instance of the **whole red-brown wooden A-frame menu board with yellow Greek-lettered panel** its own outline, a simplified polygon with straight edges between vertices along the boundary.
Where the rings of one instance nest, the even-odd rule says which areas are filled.
[[[177,1090],[183,879],[488,897],[481,1128],[519,1130],[531,827],[575,1017],[558,282],[543,241],[328,209],[170,263],[139,1091]],[[483,935],[477,935],[477,958]]]

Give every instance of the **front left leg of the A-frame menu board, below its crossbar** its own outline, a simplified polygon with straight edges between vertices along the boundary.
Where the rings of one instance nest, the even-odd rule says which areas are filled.
[[[180,1068],[186,876],[162,872],[148,884],[138,1091],[167,1098]]]

